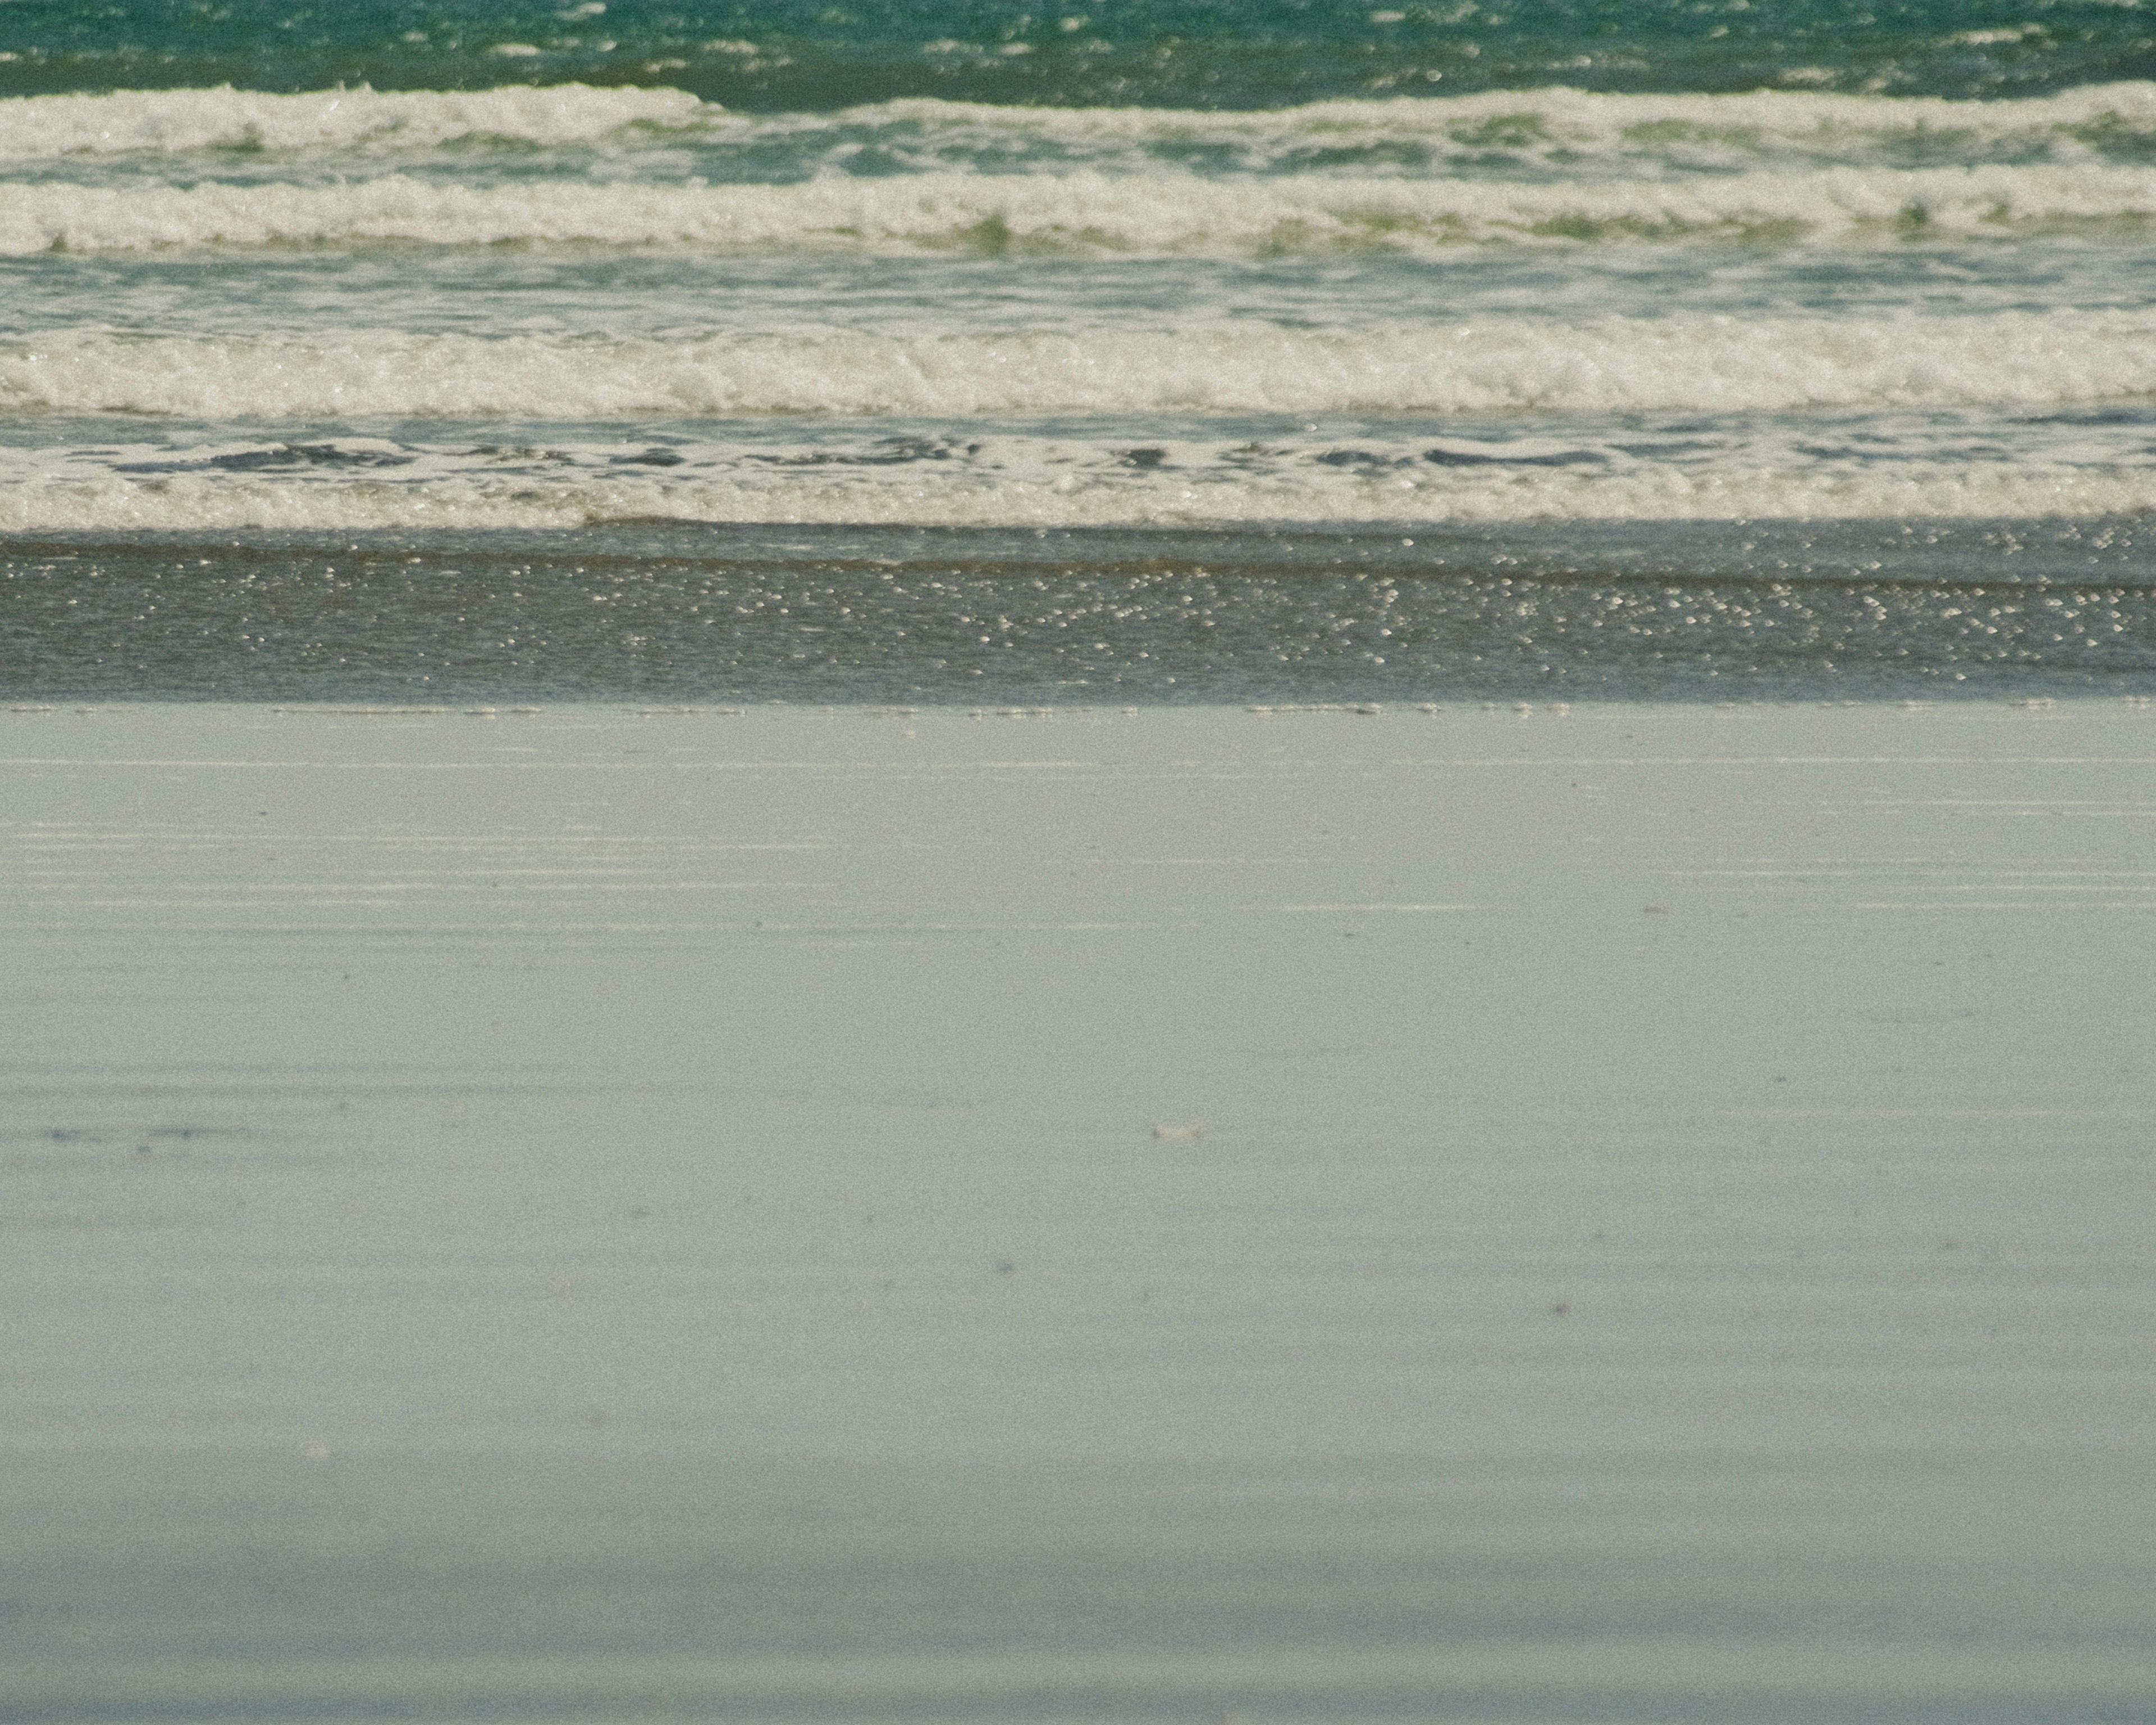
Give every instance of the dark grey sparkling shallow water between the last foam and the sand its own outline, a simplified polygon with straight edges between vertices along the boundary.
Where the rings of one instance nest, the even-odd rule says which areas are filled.
[[[1121,705],[2156,688],[2139,520],[54,535],[26,701]]]

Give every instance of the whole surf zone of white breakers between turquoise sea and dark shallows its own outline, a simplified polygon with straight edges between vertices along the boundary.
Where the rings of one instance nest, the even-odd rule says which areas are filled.
[[[2156,84],[177,91],[0,162],[9,530],[2156,505]]]

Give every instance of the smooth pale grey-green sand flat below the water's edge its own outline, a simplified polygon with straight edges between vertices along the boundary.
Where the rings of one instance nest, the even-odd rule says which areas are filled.
[[[0,714],[15,1719],[2156,1708],[2156,714]]]

